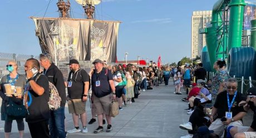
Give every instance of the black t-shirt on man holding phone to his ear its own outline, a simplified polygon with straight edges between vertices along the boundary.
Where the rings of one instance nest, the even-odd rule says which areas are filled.
[[[37,75],[34,77],[34,80],[36,80],[37,76],[40,73],[37,73]],[[43,120],[47,120],[50,117],[50,110],[49,110],[49,82],[47,79],[47,76],[41,74],[40,77],[37,79],[36,83],[40,85],[43,89],[45,89],[45,93],[43,95],[37,95],[35,91],[33,91],[31,88],[29,90],[29,93],[31,95],[29,98],[28,93],[28,103],[31,102],[31,104],[28,106],[28,115],[26,117],[27,122],[40,122]],[[32,101],[31,101],[32,100]]]

